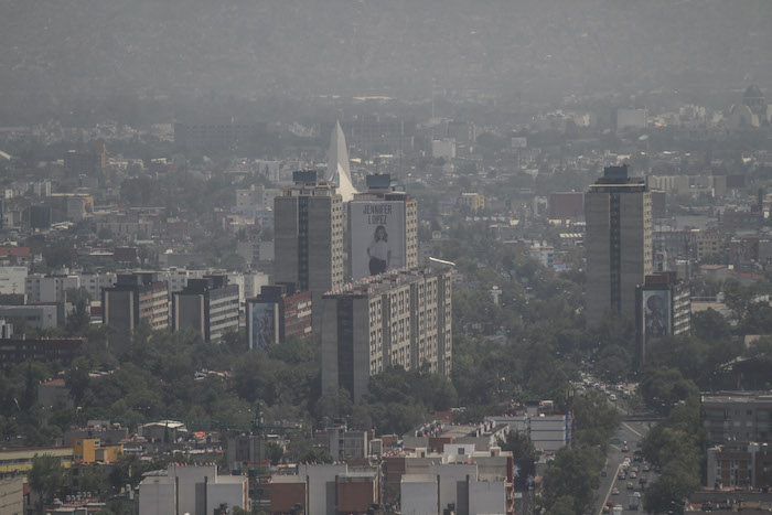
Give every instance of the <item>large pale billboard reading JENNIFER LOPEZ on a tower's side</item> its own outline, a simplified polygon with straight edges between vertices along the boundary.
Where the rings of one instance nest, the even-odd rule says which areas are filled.
[[[352,201],[349,205],[352,278],[358,280],[404,267],[405,203]]]

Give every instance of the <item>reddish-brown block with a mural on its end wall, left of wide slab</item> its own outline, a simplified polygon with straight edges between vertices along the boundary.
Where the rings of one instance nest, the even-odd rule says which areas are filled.
[[[258,297],[247,299],[246,323],[250,350],[308,337],[313,328],[311,292],[294,291],[293,285],[264,286]]]

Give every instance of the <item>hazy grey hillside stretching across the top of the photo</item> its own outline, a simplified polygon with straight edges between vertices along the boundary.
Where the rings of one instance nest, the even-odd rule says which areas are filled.
[[[772,86],[769,0],[6,0],[0,105]]]

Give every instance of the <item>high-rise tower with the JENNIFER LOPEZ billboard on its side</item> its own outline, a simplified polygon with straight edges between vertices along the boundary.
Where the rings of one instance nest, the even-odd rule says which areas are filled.
[[[418,266],[416,201],[396,191],[389,174],[368,175],[367,187],[366,193],[357,193],[349,203],[353,280]]]

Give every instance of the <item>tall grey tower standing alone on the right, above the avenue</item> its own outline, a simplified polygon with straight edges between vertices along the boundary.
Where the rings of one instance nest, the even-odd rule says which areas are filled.
[[[607,167],[585,195],[587,321],[605,312],[635,316],[635,288],[652,273],[652,200],[628,165]]]

